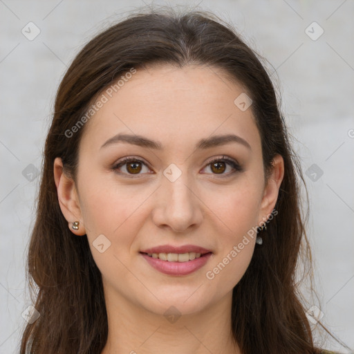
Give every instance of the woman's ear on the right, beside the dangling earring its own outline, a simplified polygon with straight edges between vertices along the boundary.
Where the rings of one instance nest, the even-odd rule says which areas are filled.
[[[284,176],[284,160],[282,156],[277,154],[273,159],[272,165],[272,171],[263,192],[258,225],[265,223],[272,213],[277,203],[279,188]]]

